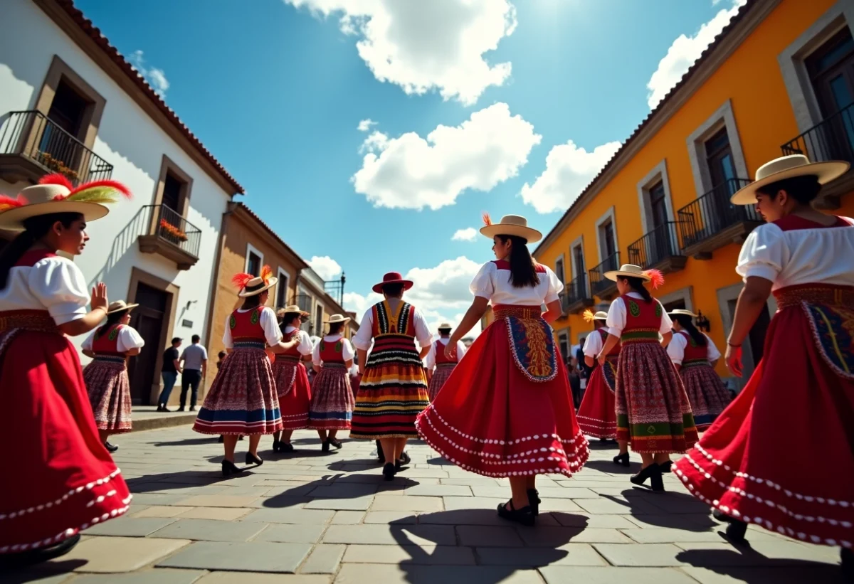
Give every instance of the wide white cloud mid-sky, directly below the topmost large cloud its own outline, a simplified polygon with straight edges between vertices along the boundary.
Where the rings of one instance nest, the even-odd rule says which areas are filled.
[[[376,207],[438,209],[453,205],[466,189],[488,191],[515,177],[541,139],[534,126],[499,102],[459,126],[436,126],[426,138],[372,132],[352,181]]]

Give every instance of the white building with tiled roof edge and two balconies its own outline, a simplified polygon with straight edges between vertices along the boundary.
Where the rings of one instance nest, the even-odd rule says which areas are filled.
[[[152,403],[172,337],[208,338],[222,216],[243,188],[73,3],[3,0],[0,15],[0,193],[56,171],[130,187],[74,261],[140,303],[132,394]]]

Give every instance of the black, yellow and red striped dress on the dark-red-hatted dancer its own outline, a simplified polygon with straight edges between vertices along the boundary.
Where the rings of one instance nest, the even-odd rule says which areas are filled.
[[[351,438],[417,438],[415,418],[430,405],[424,363],[415,347],[415,307],[388,301],[371,308],[373,350],[353,412]]]

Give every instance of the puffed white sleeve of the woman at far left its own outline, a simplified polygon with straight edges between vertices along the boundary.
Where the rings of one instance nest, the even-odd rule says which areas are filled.
[[[40,260],[32,266],[30,291],[50,312],[56,324],[83,318],[89,304],[89,291],[80,268],[61,257]]]

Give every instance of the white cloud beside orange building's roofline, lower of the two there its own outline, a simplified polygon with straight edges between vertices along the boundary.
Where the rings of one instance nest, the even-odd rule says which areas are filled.
[[[572,140],[554,146],[546,157],[546,170],[534,184],[522,186],[523,201],[537,213],[565,211],[619,148],[619,142],[609,142],[588,152]]]

